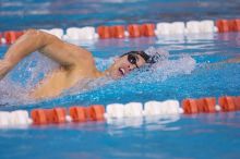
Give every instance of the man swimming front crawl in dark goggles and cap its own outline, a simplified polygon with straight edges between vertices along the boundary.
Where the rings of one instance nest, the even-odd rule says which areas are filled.
[[[120,78],[134,69],[149,62],[144,51],[131,51],[115,59],[113,64],[104,72],[97,70],[92,53],[81,47],[64,42],[41,30],[28,29],[13,44],[0,60],[0,80],[21,60],[34,51],[60,64],[59,69],[47,74],[31,93],[35,99],[59,96],[63,90],[86,78]]]

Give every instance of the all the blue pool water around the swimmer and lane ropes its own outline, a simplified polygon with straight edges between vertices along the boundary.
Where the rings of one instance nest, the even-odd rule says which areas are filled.
[[[231,19],[240,12],[238,1],[221,0],[2,0],[0,4],[0,32]],[[130,50],[159,49],[168,57],[120,81],[89,90],[76,86],[60,97],[33,101],[25,98],[26,91],[57,66],[34,52],[0,82],[0,110],[240,95],[240,64],[213,64],[240,56],[239,33],[85,40],[77,45],[93,52],[99,70]],[[0,46],[0,57],[7,49]],[[224,112],[0,130],[0,158],[239,158],[239,123],[240,112]]]

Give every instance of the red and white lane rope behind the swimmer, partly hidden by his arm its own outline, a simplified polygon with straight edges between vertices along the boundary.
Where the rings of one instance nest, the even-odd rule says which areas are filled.
[[[172,36],[172,35],[192,35],[192,34],[213,34],[213,33],[228,33],[240,32],[240,19],[233,20],[212,20],[189,21],[189,22],[160,22],[157,24],[129,24],[115,26],[86,26],[86,27],[69,27],[65,32],[62,28],[40,29],[43,32],[52,34],[58,38],[67,41],[71,40],[96,40],[108,38],[139,38],[139,37],[154,37],[154,36]],[[7,30],[0,33],[0,44],[11,45],[24,30]]]

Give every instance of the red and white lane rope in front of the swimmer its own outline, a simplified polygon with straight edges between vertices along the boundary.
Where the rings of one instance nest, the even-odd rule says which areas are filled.
[[[63,123],[84,123],[88,121],[121,120],[128,118],[166,117],[180,114],[217,113],[240,110],[240,96],[223,96],[199,99],[92,105],[89,107],[72,106],[51,109],[0,111],[0,127],[17,127],[21,125],[48,125]]]

